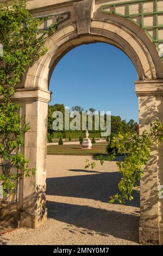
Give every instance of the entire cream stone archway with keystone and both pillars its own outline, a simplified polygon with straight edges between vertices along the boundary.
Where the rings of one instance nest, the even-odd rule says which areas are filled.
[[[138,75],[135,90],[139,98],[140,132],[149,129],[150,121],[156,118],[163,121],[163,64],[158,49],[145,31],[122,15],[102,13],[101,5],[110,1],[51,2],[54,4],[46,8],[33,9],[33,14],[40,16],[43,11],[51,14],[58,10],[64,14],[67,11],[71,14],[70,19],[65,19],[57,33],[46,41],[46,55],[33,63],[13,99],[21,105],[22,114],[26,115],[26,121],[30,123],[31,129],[24,137],[22,151],[30,159],[30,165],[37,170],[35,178],[24,178],[21,182],[18,203],[4,210],[6,220],[13,223],[18,220],[21,227],[35,228],[47,217],[46,133],[47,107],[51,99],[48,84],[57,63],[72,48],[81,44],[105,42],[125,52]],[[153,151],[141,180],[141,243],[163,243],[163,203],[158,201],[157,196],[158,187],[163,182],[161,154],[162,148]]]

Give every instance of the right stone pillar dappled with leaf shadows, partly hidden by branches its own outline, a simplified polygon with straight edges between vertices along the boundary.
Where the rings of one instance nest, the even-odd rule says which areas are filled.
[[[139,99],[140,133],[149,130],[149,123],[163,121],[163,81],[136,82]],[[162,199],[158,199],[159,186],[163,184],[163,148],[152,151],[144,175],[140,181],[140,243],[163,244]]]

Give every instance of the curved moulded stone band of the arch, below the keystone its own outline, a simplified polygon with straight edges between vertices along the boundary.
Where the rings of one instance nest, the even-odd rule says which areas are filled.
[[[92,20],[90,34],[78,35],[76,22],[53,34],[46,41],[46,55],[29,68],[25,87],[47,90],[53,69],[68,51],[76,46],[98,41],[115,45],[125,52],[133,62],[140,81],[157,78],[157,66],[160,69],[161,59],[160,63],[159,59],[153,59],[146,45],[134,32],[114,21]],[[155,56],[156,54],[155,49]]]

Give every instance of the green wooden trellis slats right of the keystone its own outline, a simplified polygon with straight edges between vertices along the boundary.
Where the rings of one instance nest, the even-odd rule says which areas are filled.
[[[101,11],[102,13],[111,13],[111,14],[116,14],[118,16],[121,17],[125,17],[126,19],[134,22],[137,26],[141,27],[149,36],[149,38],[151,38],[151,40],[154,42],[154,44],[156,45],[156,47],[159,49],[159,45],[161,43],[163,43],[163,39],[159,39],[159,29],[163,29],[163,24],[159,25],[158,22],[158,16],[159,15],[163,15],[163,10],[162,11],[158,11],[158,0],[153,0],[153,11],[152,12],[144,12],[143,10],[143,4],[145,2],[152,2],[152,0],[134,0],[134,1],[128,1],[128,2],[121,2],[121,3],[112,3],[112,4],[107,4],[107,5],[102,5],[101,7]],[[129,6],[132,4],[136,4],[136,3],[140,3],[141,7],[140,13],[135,13],[135,14],[130,14],[129,13]],[[126,14],[122,15],[120,13],[116,12],[116,7],[123,7],[123,5],[126,5]],[[111,10],[107,10],[108,8],[110,8]],[[144,17],[146,16],[155,16],[155,24],[153,26],[144,26]],[[136,22],[133,20],[133,18],[135,17],[141,17],[141,22]],[[151,29],[155,29],[155,38],[149,33],[149,30]]]

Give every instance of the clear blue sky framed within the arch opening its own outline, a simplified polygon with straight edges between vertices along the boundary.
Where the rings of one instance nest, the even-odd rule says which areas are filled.
[[[50,104],[111,111],[122,119],[138,121],[131,60],[118,48],[104,43],[81,45],[68,52],[53,71]]]

